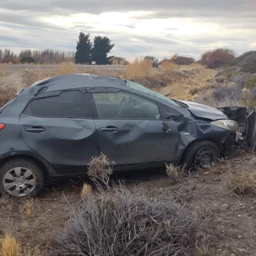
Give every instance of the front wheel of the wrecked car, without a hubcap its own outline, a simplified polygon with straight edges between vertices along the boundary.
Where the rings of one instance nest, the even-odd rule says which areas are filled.
[[[195,141],[186,148],[182,157],[182,164],[186,164],[186,168],[201,169],[205,166],[218,161],[220,157],[220,149],[212,141]]]

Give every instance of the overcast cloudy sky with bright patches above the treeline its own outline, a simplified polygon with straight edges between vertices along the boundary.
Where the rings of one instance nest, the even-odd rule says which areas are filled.
[[[256,0],[0,0],[0,49],[76,49],[79,31],[108,36],[111,54],[200,58],[256,50]]]

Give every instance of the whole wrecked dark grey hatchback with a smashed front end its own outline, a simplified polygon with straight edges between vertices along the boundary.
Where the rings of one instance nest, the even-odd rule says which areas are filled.
[[[51,77],[0,109],[0,193],[33,196],[48,180],[84,176],[101,152],[115,171],[203,168],[246,140],[255,113],[247,117],[243,108],[172,100],[116,77]]]

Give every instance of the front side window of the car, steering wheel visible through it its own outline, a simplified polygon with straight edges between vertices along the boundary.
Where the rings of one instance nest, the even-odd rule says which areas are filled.
[[[99,118],[160,119],[157,103],[129,92],[93,93]]]

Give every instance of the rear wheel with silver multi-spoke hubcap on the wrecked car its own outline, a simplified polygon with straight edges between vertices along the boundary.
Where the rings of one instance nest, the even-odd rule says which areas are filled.
[[[30,159],[11,159],[0,168],[0,193],[15,197],[33,197],[42,190],[44,173]]]

